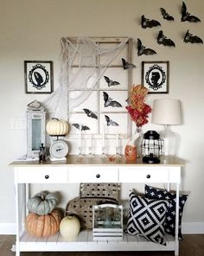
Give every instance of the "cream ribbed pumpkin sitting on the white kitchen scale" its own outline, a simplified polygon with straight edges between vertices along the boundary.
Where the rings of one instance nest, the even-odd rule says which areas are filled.
[[[48,121],[48,124],[46,125],[46,131],[51,136],[66,135],[68,132],[68,124],[64,120],[53,118]]]

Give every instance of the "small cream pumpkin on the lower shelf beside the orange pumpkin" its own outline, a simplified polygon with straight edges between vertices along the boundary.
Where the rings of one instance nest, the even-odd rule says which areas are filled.
[[[61,236],[64,240],[74,240],[80,233],[80,221],[76,216],[66,216],[60,224]]]

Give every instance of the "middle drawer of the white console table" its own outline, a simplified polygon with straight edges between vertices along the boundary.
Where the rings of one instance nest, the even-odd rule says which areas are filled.
[[[69,182],[118,182],[117,168],[70,168]]]

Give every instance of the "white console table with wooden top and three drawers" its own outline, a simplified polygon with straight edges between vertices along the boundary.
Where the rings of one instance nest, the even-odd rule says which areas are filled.
[[[159,164],[109,161],[94,157],[83,158],[80,162],[76,156],[68,156],[66,162],[38,163],[13,162],[16,187],[16,256],[21,252],[74,252],[74,251],[175,251],[179,254],[178,242],[178,206],[179,184],[184,163],[178,158],[163,157]],[[140,236],[124,234],[123,240],[96,241],[92,240],[92,231],[81,231],[76,240],[66,242],[61,234],[47,239],[37,239],[23,228],[28,213],[26,202],[29,198],[29,184],[32,183],[80,183],[80,182],[135,182],[135,183],[170,183],[176,185],[176,220],[175,238],[167,236],[167,246],[149,242]]]

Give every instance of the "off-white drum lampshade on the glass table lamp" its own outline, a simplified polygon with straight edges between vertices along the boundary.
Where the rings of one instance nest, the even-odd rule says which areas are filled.
[[[155,99],[151,122],[157,125],[182,124],[180,99]]]

